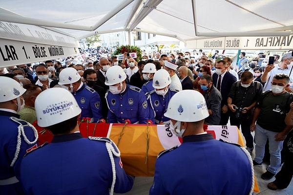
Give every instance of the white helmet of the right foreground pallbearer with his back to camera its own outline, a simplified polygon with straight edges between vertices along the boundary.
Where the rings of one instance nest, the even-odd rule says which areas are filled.
[[[193,100],[187,101],[187,97]],[[164,116],[181,122],[196,122],[209,117],[209,112],[206,100],[200,92],[182,90],[172,96]]]

